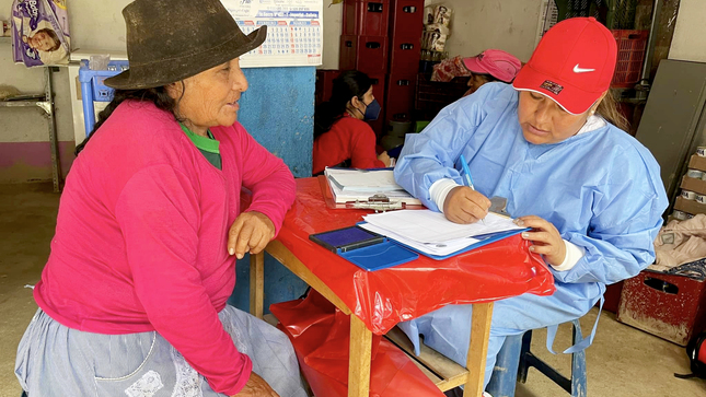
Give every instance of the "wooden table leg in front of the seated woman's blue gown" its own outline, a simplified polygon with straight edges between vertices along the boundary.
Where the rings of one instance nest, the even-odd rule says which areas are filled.
[[[471,318],[471,346],[466,359],[468,380],[463,389],[463,397],[482,397],[485,362],[488,355],[488,338],[493,319],[493,302],[473,305]]]

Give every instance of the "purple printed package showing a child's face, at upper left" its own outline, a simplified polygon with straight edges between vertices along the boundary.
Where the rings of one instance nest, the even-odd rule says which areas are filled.
[[[66,0],[14,0],[11,30],[16,63],[68,63],[71,44]]]

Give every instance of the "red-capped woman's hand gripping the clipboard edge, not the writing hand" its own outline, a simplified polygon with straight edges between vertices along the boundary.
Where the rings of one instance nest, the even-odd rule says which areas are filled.
[[[522,233],[522,238],[534,243],[530,246],[531,252],[544,255],[544,260],[552,266],[559,266],[564,262],[566,244],[552,222],[530,215],[518,218],[514,223],[518,226],[532,227],[532,231]]]

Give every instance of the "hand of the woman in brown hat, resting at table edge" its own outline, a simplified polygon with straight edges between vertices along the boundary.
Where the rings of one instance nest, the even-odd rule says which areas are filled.
[[[245,253],[259,254],[275,237],[275,224],[262,212],[243,212],[228,232],[228,253],[242,259]]]

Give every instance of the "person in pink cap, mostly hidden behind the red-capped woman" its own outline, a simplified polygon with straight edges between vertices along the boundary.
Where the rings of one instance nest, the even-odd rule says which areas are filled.
[[[511,83],[520,72],[522,62],[512,54],[500,49],[486,49],[475,57],[464,58],[463,66],[471,72],[467,96],[476,92],[481,85],[493,81]]]

